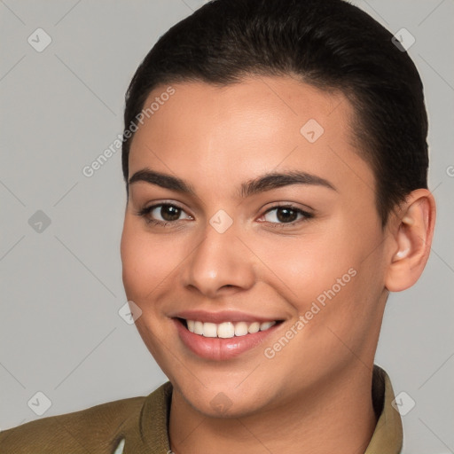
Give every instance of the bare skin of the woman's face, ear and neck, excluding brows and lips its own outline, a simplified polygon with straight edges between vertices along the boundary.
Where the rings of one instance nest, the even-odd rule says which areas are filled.
[[[126,294],[143,311],[138,332],[174,386],[172,450],[364,452],[377,422],[371,382],[383,310],[388,291],[413,285],[427,262],[431,193],[411,192],[382,229],[372,169],[353,145],[353,109],[341,93],[290,76],[172,86],[175,95],[132,140],[129,177],[153,169],[184,179],[196,195],[130,184],[121,238]],[[309,119],[325,129],[313,144],[300,133]],[[239,198],[240,184],[285,170],[319,176],[335,190],[292,184]],[[178,221],[162,227],[137,215],[163,202],[183,208]],[[313,217],[294,215],[286,226],[278,209],[265,214],[288,203]],[[223,233],[209,223],[219,209],[233,220]],[[163,219],[160,209],[153,214]],[[265,357],[350,269],[356,276]],[[184,346],[170,318],[188,308],[284,322],[240,356],[206,360]],[[222,412],[210,404],[219,393],[230,403]]]

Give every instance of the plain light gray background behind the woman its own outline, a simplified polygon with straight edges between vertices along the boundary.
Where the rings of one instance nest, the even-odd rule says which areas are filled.
[[[118,315],[126,301],[120,151],[90,178],[82,168],[121,133],[138,63],[202,3],[0,0],[2,429],[39,418],[27,405],[38,391],[51,400],[43,415],[51,416],[147,395],[166,380]],[[438,203],[427,269],[390,296],[376,363],[395,394],[416,402],[403,416],[404,452],[454,452],[454,2],[354,3],[416,38],[409,52],[425,83]],[[38,27],[52,39],[42,52],[27,43]],[[41,232],[28,223],[37,210],[51,220]]]

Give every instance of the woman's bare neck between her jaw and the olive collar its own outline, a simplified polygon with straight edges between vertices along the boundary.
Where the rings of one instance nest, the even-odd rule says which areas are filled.
[[[172,394],[169,437],[176,454],[234,451],[249,454],[286,452],[364,453],[377,418],[372,405],[372,366],[358,362],[292,402],[238,418],[212,418],[195,410],[176,391]]]

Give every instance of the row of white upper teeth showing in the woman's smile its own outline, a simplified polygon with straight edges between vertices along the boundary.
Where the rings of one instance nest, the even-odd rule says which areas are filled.
[[[221,339],[229,339],[233,336],[246,336],[247,334],[266,331],[271,326],[276,325],[276,322],[223,322],[215,324],[210,322],[200,322],[196,320],[186,320],[188,330],[191,333],[200,334],[204,337],[218,337]]]

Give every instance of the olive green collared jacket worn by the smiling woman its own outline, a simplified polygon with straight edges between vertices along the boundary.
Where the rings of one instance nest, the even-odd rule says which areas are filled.
[[[2,454],[168,454],[168,415],[172,385],[148,396],[102,403],[0,432]],[[391,405],[387,373],[374,365],[372,400],[380,415],[364,454],[400,454],[402,422]]]

